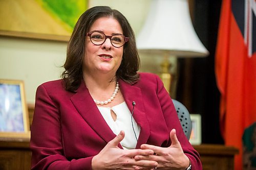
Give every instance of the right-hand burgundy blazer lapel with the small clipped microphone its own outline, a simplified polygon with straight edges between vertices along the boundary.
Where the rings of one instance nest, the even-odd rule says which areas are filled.
[[[123,94],[123,98],[128,106],[129,110],[132,113],[133,102],[136,103],[134,106],[133,117],[136,123],[141,127],[140,135],[136,148],[140,148],[140,145],[147,142],[148,137],[150,136],[150,125],[146,118],[146,113],[143,104],[142,93],[139,87],[134,85],[129,85],[122,80],[119,80],[120,90]]]

